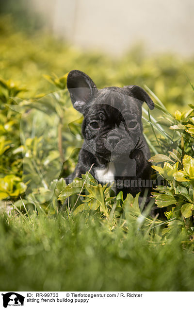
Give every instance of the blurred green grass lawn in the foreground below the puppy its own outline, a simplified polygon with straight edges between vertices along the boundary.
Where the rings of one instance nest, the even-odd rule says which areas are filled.
[[[97,214],[0,219],[1,291],[193,291],[194,255]]]

